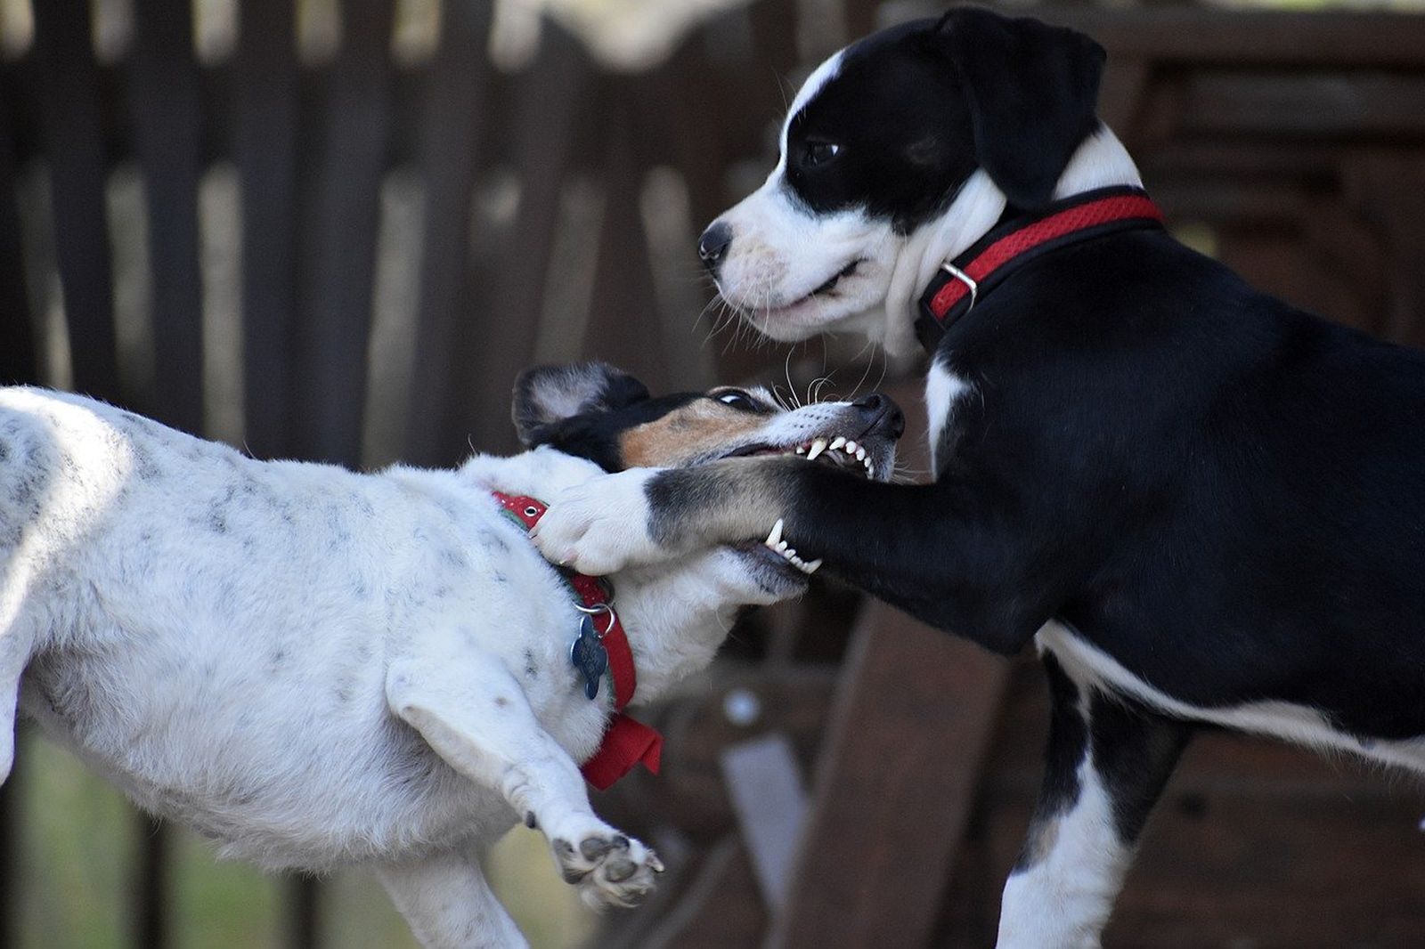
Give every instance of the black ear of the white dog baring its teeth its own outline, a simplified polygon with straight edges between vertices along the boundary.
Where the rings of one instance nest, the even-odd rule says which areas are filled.
[[[526,369],[514,380],[510,415],[520,443],[534,447],[550,425],[584,412],[621,409],[648,398],[648,389],[607,362],[571,362]]]

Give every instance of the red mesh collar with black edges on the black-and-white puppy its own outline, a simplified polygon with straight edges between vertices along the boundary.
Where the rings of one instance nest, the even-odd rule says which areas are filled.
[[[1161,227],[1163,212],[1141,188],[1099,188],[1056,201],[1046,212],[1007,221],[950,262],[921,295],[915,332],[935,352],[950,323],[1022,265],[1066,244],[1114,231]]]

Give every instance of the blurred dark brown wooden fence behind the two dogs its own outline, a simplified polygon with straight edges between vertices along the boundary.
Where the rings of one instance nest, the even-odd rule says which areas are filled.
[[[435,465],[513,445],[509,385],[537,359],[598,355],[656,389],[821,368],[819,343],[704,343],[693,241],[765,174],[782,83],[839,38],[817,11],[861,34],[871,0],[762,0],[641,73],[597,66],[551,24],[532,61],[497,68],[480,0],[439,4],[416,60],[392,53],[392,0],[342,4],[316,60],[292,0],[239,0],[237,44],[215,60],[195,53],[190,0],[133,0],[131,40],[103,54],[88,3],[31,9],[33,40],[0,58],[0,380],[66,385],[259,457]],[[1421,20],[1047,13],[1109,46],[1104,114],[1188,237],[1284,296],[1425,342]],[[668,781],[601,804],[636,831],[681,828],[688,854],[667,902],[617,921],[608,945],[983,942],[1032,787],[992,740],[1023,747],[999,710],[1037,685],[888,610],[865,613],[845,653],[858,606],[821,590],[772,611],[738,647],[760,663],[750,678],[665,711],[684,750]],[[755,725],[721,711],[738,688],[760,701]],[[775,893],[720,758],[764,732],[788,737],[809,782]],[[875,734],[913,741],[923,764],[882,774]],[[0,814],[0,945],[17,819]],[[1359,826],[1338,816],[1332,841],[1349,848]],[[145,825],[141,839],[133,942],[162,946],[167,838]],[[1134,878],[1123,945],[1154,932],[1134,893],[1171,879]],[[1251,930],[1220,886],[1191,885],[1210,898],[1178,906],[1216,906],[1224,938],[1247,926],[1271,945],[1270,919]],[[319,942],[315,892],[291,889],[292,946]],[[1416,909],[1401,932],[1418,936]]]

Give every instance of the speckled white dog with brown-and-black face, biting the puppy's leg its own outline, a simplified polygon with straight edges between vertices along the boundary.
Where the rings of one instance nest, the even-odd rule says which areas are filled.
[[[737,389],[650,399],[604,365],[549,368],[516,388],[533,450],[358,474],[0,389],[0,781],[19,704],[224,855],[372,865],[432,946],[523,943],[477,864],[520,818],[590,903],[636,903],[663,868],[594,815],[577,764],[620,684],[571,663],[590,610],[492,492],[805,450],[865,413]],[[888,476],[893,436],[862,443],[862,463],[825,457]],[[703,668],[738,607],[804,590],[815,564],[771,540],[613,579],[637,701]]]

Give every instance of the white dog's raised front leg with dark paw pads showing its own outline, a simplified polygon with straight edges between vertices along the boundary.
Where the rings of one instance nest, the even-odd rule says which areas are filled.
[[[657,855],[600,821],[579,765],[534,718],[493,657],[466,651],[392,665],[386,701],[466,778],[494,788],[549,838],[560,873],[591,906],[633,906],[663,872]]]

